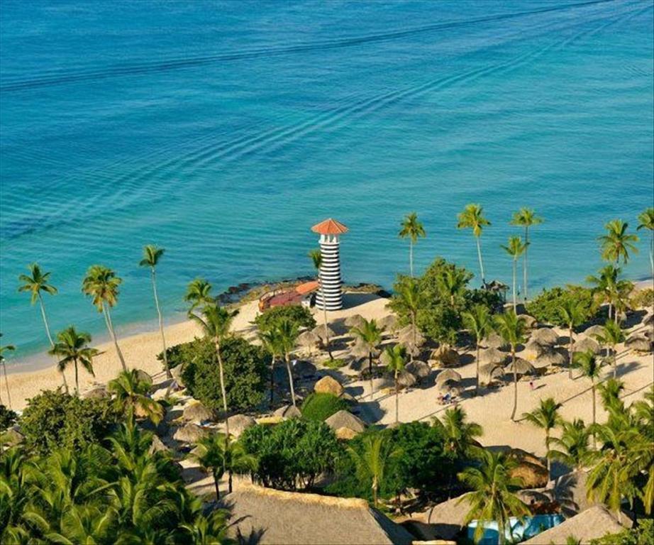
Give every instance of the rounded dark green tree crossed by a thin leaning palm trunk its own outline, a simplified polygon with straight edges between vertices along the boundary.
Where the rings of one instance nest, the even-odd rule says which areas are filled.
[[[216,348],[210,339],[196,338],[186,343],[179,353],[184,355],[182,379],[189,393],[209,407],[220,410],[223,399]],[[260,346],[241,337],[228,337],[221,343],[227,406],[230,410],[257,407],[264,398],[269,371],[267,356]]]

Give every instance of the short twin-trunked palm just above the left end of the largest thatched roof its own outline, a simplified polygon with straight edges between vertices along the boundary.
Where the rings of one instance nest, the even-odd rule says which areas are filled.
[[[218,484],[226,470],[229,473],[228,492],[232,492],[232,473],[247,473],[256,463],[255,457],[248,454],[242,444],[238,441],[230,442],[225,434],[220,433],[200,439],[191,456],[203,470],[211,471],[216,488],[216,500],[220,500]]]

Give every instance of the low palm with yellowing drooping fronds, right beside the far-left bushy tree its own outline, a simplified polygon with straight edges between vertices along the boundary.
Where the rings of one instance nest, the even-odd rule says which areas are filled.
[[[136,414],[152,420],[158,424],[164,417],[162,405],[150,397],[152,382],[144,380],[138,370],[123,371],[116,378],[109,381],[107,390],[113,394],[116,407],[127,414],[128,422]]]

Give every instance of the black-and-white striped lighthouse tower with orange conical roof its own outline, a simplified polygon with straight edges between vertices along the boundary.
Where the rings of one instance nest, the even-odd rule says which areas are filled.
[[[336,219],[326,219],[311,227],[320,235],[320,290],[316,294],[318,309],[338,310],[343,308],[343,280],[340,277],[340,257],[338,237],[348,232]]]

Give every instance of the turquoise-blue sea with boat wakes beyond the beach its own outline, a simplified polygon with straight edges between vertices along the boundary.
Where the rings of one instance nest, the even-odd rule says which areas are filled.
[[[608,219],[653,204],[653,2],[0,3],[0,329],[42,350],[38,309],[16,292],[31,261],[52,271],[56,330],[101,338],[80,292],[93,263],[124,278],[118,331],[153,319],[141,247],[165,246],[170,321],[201,275],[216,290],[309,274],[309,228],[343,238],[348,282],[392,285],[415,210],[423,268],[477,272],[455,229],[484,205],[487,276],[521,206],[532,286],[599,266]],[[646,246],[626,268],[648,274]]]

